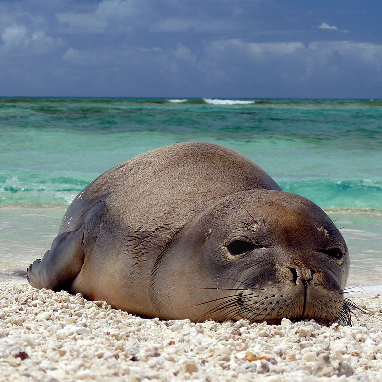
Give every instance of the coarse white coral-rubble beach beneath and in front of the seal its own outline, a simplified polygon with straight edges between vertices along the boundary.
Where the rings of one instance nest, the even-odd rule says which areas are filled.
[[[0,284],[0,381],[382,381],[382,296],[353,327],[143,319]]]

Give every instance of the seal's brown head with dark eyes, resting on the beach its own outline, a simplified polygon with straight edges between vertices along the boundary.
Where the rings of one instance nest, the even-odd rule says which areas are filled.
[[[218,200],[168,243],[151,293],[163,318],[350,322],[348,273],[346,243],[322,209],[250,190]]]

